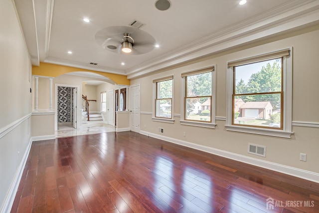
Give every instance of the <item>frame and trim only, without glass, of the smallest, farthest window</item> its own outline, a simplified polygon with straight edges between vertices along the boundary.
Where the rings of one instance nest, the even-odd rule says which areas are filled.
[[[156,116],[156,102],[158,100],[163,100],[161,98],[158,98],[158,83],[159,82],[163,82],[163,81],[167,81],[167,80],[171,80],[172,81],[172,94],[171,94],[171,98],[164,98],[166,99],[171,99],[171,115],[170,118],[167,117],[159,117]],[[165,77],[161,77],[161,78],[157,78],[153,80],[153,113],[152,113],[152,120],[153,121],[159,121],[159,122],[165,122],[165,123],[174,123],[174,75],[169,75],[169,76],[165,76]]]

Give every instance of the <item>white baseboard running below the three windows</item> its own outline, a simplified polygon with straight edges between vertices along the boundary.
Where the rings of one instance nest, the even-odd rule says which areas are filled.
[[[174,138],[170,138],[170,137],[166,137],[166,136],[162,136],[162,135],[157,135],[154,133],[149,133],[149,132],[145,132],[145,131],[141,131],[140,133],[142,135],[147,135],[147,136],[157,138],[157,139],[160,139],[163,141],[171,142],[174,144],[178,144],[181,146],[200,150],[200,151],[207,152],[210,154],[218,155],[218,156],[232,159],[235,161],[239,161],[242,163],[254,165],[257,167],[269,169],[272,171],[280,172],[280,173],[291,175],[291,176],[294,176],[297,178],[302,178],[302,179],[305,179],[308,181],[319,183],[319,174],[318,173],[314,173],[314,172],[310,172],[307,170],[302,170],[302,169],[298,169],[298,168],[294,168],[294,167],[289,167],[289,166],[285,166],[285,165],[281,165],[281,164],[276,164],[276,163],[272,163],[269,161],[255,159],[255,158],[251,158],[248,156],[227,152],[224,150],[219,150],[219,149],[215,149],[215,148],[211,148],[211,147],[207,147],[207,146],[202,146],[202,145],[198,145],[198,144],[194,144],[194,143],[190,143],[187,141],[182,141],[182,140],[178,140],[178,139],[174,139]]]

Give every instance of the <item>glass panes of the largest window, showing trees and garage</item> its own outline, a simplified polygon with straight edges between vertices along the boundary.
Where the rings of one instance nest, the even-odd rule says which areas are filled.
[[[283,129],[283,57],[234,66],[232,124]]]

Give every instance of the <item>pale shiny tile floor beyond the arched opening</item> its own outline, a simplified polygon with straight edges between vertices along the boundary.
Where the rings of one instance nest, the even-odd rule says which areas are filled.
[[[70,137],[76,135],[88,135],[102,132],[114,132],[115,127],[101,122],[90,121],[82,123],[79,129],[74,129],[72,124],[58,124],[58,130],[55,131],[57,138]]]

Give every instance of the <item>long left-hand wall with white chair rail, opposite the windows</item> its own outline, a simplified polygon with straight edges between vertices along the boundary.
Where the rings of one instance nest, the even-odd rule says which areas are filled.
[[[31,63],[12,0],[0,1],[0,28],[0,212],[9,212],[31,137]]]

